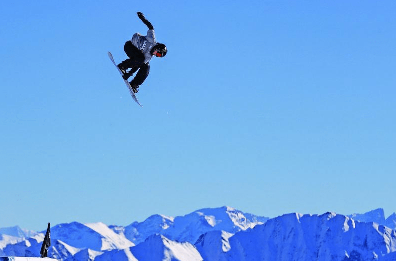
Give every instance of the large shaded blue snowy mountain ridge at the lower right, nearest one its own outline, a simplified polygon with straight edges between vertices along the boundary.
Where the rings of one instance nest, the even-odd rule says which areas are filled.
[[[230,237],[228,251],[219,252],[223,237],[216,240],[209,235],[210,246],[206,246],[206,237],[196,247],[207,261],[368,261],[396,251],[395,230],[335,213],[293,213],[270,219]]]

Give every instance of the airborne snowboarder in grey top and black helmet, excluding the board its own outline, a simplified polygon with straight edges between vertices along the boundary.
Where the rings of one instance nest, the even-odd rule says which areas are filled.
[[[164,57],[167,53],[166,46],[156,42],[154,28],[151,23],[147,21],[142,13],[138,12],[137,14],[143,24],[148,27],[147,35],[142,36],[140,33],[136,33],[133,35],[132,40],[125,43],[124,51],[129,58],[118,65],[126,81],[139,70],[130,82],[134,93],[138,92],[139,86],[146,80],[150,72],[149,61],[151,58],[153,56]],[[128,69],[131,70],[127,71]]]

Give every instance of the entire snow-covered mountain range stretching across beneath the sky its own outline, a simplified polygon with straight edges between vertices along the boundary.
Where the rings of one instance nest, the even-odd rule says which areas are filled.
[[[60,261],[396,261],[396,214],[291,213],[267,218],[231,207],[185,216],[153,215],[126,227],[104,223],[51,228]],[[43,232],[0,228],[0,256],[37,256]]]

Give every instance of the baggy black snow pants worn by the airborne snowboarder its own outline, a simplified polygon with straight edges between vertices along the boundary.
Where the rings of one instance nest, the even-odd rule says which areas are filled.
[[[121,62],[119,66],[125,69],[131,68],[131,70],[126,73],[128,77],[132,76],[132,74],[139,70],[135,78],[133,78],[130,83],[131,86],[141,85],[149,75],[150,64],[149,62],[147,62],[147,64],[144,63],[145,58],[143,53],[136,46],[134,46],[131,41],[125,43],[124,51],[129,59]]]

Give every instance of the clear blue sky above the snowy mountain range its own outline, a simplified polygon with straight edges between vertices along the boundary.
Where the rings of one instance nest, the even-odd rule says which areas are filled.
[[[133,102],[107,52],[168,47]],[[396,2],[3,1],[0,227],[396,211]]]

